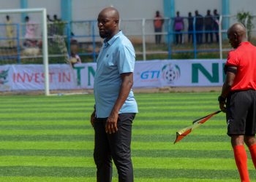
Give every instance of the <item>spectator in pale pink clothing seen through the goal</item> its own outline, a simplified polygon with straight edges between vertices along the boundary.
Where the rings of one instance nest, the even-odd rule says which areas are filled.
[[[26,22],[26,34],[25,34],[25,42],[24,45],[26,47],[36,47],[37,39],[36,39],[36,31],[37,25],[30,21],[29,16],[25,17]]]

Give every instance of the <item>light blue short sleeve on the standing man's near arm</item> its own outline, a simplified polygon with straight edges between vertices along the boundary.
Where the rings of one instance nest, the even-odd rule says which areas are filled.
[[[135,68],[135,51],[133,47],[121,46],[117,55],[117,67],[119,74],[130,73]]]

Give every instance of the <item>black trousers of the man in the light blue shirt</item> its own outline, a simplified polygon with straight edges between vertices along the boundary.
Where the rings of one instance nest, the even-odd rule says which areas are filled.
[[[97,182],[112,181],[112,159],[118,171],[119,182],[133,182],[131,159],[131,138],[133,113],[118,115],[118,131],[114,134],[105,132],[108,118],[94,122],[94,162],[97,166]]]

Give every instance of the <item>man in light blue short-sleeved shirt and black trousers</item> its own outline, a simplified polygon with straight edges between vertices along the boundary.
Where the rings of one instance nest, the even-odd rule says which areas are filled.
[[[112,159],[118,170],[118,181],[133,181],[130,145],[132,121],[138,113],[132,92],[135,50],[119,31],[117,9],[102,9],[97,21],[99,36],[104,39],[97,58],[95,107],[91,114],[97,181],[112,180]]]

